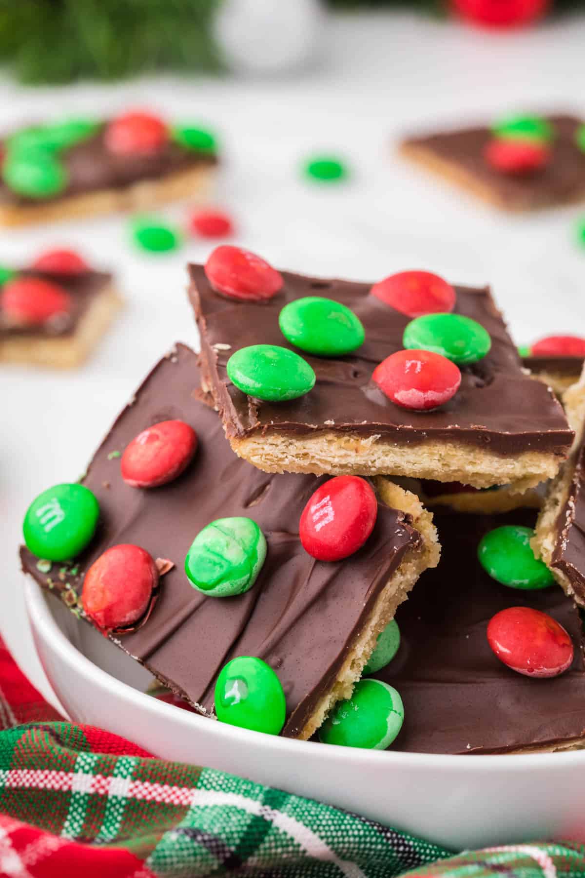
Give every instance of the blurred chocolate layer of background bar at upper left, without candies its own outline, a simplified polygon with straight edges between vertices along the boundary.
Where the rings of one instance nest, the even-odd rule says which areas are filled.
[[[182,147],[171,140],[152,153],[117,155],[106,147],[104,133],[105,125],[87,140],[60,151],[60,160],[67,169],[68,184],[58,196],[44,198],[43,203],[47,200],[57,202],[86,192],[125,189],[143,180],[158,180],[197,165],[213,165],[218,161],[211,153]],[[2,204],[38,205],[39,199],[18,195],[0,178]]]

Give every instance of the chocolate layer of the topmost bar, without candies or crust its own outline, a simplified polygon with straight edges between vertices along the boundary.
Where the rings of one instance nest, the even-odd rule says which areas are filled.
[[[407,445],[457,440],[499,454],[545,451],[564,457],[572,434],[562,409],[544,385],[521,369],[517,349],[488,289],[457,287],[455,312],[478,320],[492,349],[479,363],[464,366],[459,392],[432,412],[395,406],[372,381],[378,363],[403,348],[410,318],[369,295],[370,284],[284,272],[284,286],[264,303],[239,302],[214,292],[203,267],[190,265],[189,298],[201,333],[204,378],[220,409],[228,437],[255,431],[308,435],[317,431],[381,435]],[[283,306],[303,296],[325,296],[350,307],[366,329],[353,356],[303,354],[317,375],[314,389],[289,402],[247,397],[234,387],[225,364],[235,350],[251,344],[278,344],[294,350],[278,326]],[[301,352],[303,353],[303,352]]]

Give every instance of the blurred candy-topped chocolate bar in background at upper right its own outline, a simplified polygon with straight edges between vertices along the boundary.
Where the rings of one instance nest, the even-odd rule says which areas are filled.
[[[400,151],[506,211],[585,201],[585,127],[573,116],[517,116],[409,137]]]

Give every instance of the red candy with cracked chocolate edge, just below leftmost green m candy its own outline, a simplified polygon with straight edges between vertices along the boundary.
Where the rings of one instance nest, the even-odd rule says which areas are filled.
[[[89,567],[82,607],[102,631],[131,628],[152,606],[159,571],[145,549],[121,543],[103,552]]]

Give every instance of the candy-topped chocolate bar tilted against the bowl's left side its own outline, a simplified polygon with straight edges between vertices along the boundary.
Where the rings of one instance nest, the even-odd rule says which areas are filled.
[[[309,738],[437,564],[432,516],[382,479],[376,497],[239,460],[198,378],[182,345],[155,367],[82,484],[33,502],[23,568],[198,710],[274,731],[280,686],[282,733]]]

